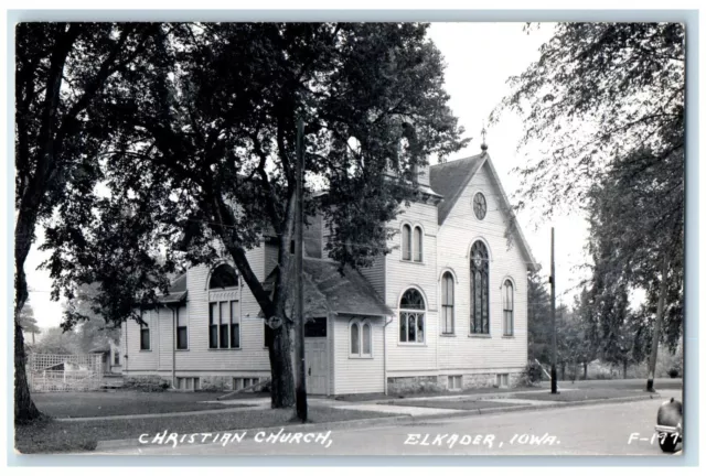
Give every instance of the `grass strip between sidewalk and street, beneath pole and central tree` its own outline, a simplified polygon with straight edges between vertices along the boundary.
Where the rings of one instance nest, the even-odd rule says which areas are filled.
[[[92,422],[58,422],[44,419],[29,425],[15,425],[15,447],[20,453],[61,453],[93,451],[103,440],[138,439],[148,433],[203,433],[252,428],[298,424],[292,409],[250,410],[207,413],[189,416],[109,420]],[[343,410],[329,407],[309,409],[311,423],[379,418],[379,412]]]

